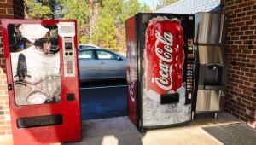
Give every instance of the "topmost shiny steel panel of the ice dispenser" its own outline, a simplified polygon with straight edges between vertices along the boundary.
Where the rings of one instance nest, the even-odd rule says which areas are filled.
[[[224,14],[195,14],[195,42],[199,44],[221,44],[224,39]]]

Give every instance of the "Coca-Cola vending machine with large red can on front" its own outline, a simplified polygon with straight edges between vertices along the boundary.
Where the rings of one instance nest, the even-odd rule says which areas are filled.
[[[143,14],[126,20],[128,114],[140,131],[192,119],[194,15]]]

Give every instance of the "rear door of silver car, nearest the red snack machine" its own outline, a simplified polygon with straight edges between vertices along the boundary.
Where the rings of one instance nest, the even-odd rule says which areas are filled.
[[[98,78],[98,61],[92,49],[79,51],[80,81],[90,81]]]

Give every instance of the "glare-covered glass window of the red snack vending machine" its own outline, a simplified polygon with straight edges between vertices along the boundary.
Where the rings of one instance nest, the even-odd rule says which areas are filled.
[[[56,25],[9,24],[15,104],[61,102],[61,69]]]

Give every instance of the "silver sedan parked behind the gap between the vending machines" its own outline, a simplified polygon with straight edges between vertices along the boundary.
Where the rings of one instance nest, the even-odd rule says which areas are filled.
[[[95,45],[79,44],[80,82],[126,78],[126,58]]]

